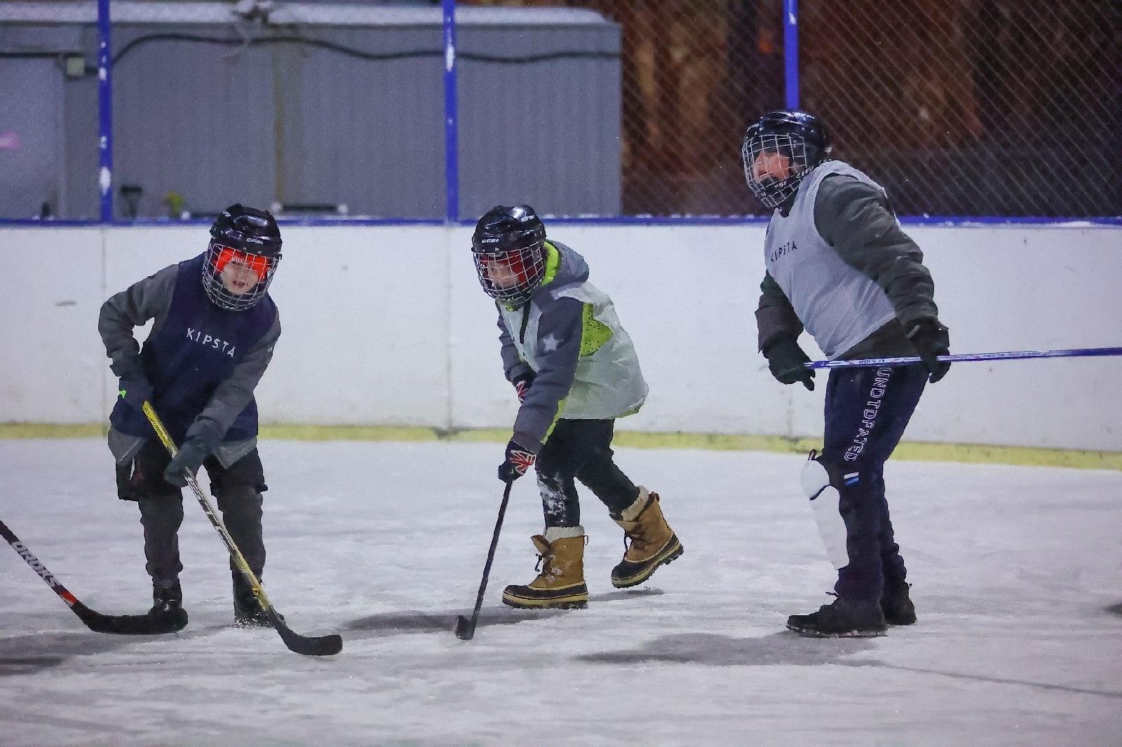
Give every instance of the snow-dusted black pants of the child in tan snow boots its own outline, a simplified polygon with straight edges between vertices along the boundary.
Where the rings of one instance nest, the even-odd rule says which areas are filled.
[[[560,419],[537,454],[537,488],[545,526],[579,526],[580,480],[618,516],[635,502],[638,488],[611,460],[615,421]]]

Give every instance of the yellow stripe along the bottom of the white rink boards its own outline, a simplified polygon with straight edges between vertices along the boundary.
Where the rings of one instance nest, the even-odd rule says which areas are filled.
[[[104,425],[63,423],[0,423],[0,439],[93,439],[105,435]],[[509,428],[433,428],[408,425],[263,425],[261,439],[284,441],[458,441],[506,443]],[[720,433],[643,433],[616,431],[613,445],[636,449],[703,449],[711,451],[771,451],[806,454],[821,449],[816,439],[735,435]],[[1122,452],[993,446],[985,444],[905,441],[893,459],[975,464],[1072,467],[1122,471]]]

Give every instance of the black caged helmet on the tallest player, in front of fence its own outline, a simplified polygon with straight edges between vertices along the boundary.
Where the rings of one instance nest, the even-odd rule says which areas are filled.
[[[799,183],[830,151],[830,138],[820,119],[804,111],[770,111],[744,133],[741,157],[744,178],[756,196],[769,208],[778,208],[799,188]],[[790,160],[790,174],[784,178],[757,179],[753,164],[762,153],[779,154]]]

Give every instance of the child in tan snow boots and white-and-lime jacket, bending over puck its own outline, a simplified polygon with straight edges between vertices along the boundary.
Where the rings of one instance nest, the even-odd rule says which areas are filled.
[[[607,506],[625,535],[611,584],[633,587],[682,554],[659,496],[636,487],[611,459],[615,418],[638,411],[647,387],[611,299],[588,282],[588,265],[545,240],[528,205],[497,205],[471,237],[479,283],[498,308],[503,368],[521,403],[498,477],[536,465],[545,531],[532,540],[537,578],[509,585],[512,607],[583,607],[585,529],[574,479]]]

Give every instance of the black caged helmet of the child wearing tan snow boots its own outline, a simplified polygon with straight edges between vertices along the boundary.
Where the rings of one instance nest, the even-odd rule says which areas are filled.
[[[487,295],[521,306],[545,277],[545,225],[530,205],[495,205],[476,223],[471,253]]]

